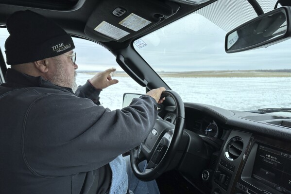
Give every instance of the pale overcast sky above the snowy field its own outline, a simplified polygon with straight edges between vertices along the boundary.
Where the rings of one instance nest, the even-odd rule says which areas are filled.
[[[146,46],[137,51],[155,71],[207,71],[291,69],[291,40],[241,53],[224,51],[226,32],[198,14],[140,38]],[[4,53],[6,29],[0,29]],[[74,38],[79,70],[103,71],[110,67],[122,71],[115,57],[102,46]]]

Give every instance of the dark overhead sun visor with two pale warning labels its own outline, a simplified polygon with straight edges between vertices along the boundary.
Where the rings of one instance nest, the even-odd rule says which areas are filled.
[[[123,42],[171,17],[179,8],[178,3],[171,1],[101,0],[84,31],[97,41]]]

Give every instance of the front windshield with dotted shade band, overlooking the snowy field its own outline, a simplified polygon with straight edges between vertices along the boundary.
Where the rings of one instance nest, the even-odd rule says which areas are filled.
[[[261,3],[261,7],[271,11],[275,2]],[[216,1],[137,39],[133,46],[184,102],[233,110],[291,107],[291,40],[225,53],[226,33],[257,17],[247,1],[229,3]],[[220,11],[213,14],[214,10]]]

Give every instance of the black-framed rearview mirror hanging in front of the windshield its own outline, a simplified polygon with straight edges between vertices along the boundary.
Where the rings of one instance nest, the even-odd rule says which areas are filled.
[[[237,53],[284,41],[291,36],[291,9],[280,7],[258,16],[225,36],[225,52]]]

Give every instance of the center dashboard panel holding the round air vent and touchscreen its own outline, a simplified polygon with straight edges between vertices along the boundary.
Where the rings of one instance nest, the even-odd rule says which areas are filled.
[[[232,131],[212,177],[212,194],[291,194],[291,143]]]

